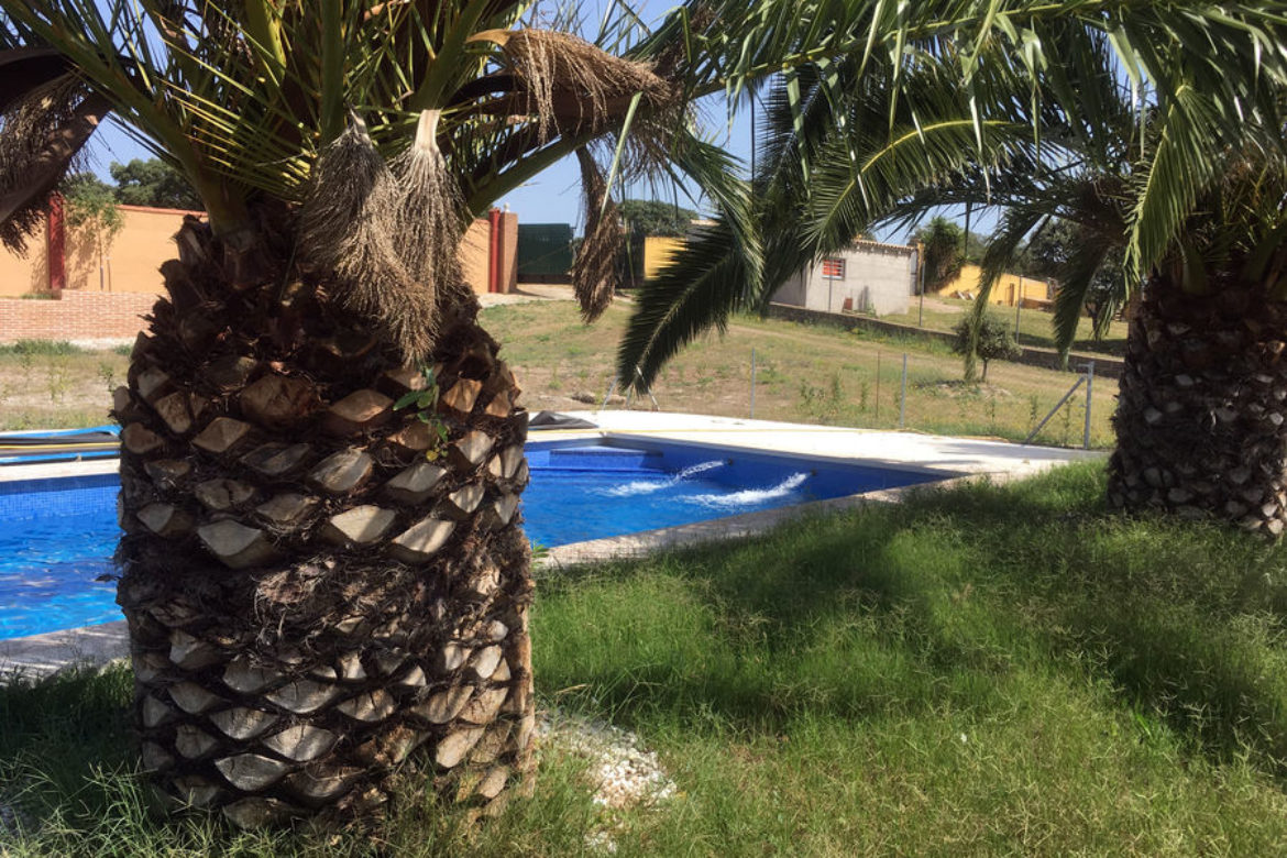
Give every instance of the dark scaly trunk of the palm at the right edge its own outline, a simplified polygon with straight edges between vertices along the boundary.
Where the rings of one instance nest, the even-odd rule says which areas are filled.
[[[1216,516],[1272,535],[1287,524],[1287,307],[1154,277],[1127,340],[1108,499]]]

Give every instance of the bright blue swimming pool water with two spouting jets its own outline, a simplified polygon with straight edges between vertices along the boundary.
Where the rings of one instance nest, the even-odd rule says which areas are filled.
[[[683,444],[528,444],[524,527],[538,545],[942,479]],[[0,482],[0,639],[120,619],[116,475]]]

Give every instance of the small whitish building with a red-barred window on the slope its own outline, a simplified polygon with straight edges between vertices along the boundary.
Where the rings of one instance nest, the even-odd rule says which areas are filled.
[[[773,301],[825,313],[906,313],[916,293],[916,248],[857,241],[786,278]]]

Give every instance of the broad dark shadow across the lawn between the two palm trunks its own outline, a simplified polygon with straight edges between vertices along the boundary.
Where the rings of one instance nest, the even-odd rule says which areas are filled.
[[[1287,551],[1104,509],[1100,466],[797,522],[547,588],[541,678],[625,723],[987,715],[1015,671],[1086,680],[1197,753],[1287,774]],[[615,602],[597,619],[605,588]],[[552,605],[551,605],[552,603]],[[548,611],[547,611],[548,608]],[[588,629],[575,628],[586,623]],[[586,653],[606,647],[610,657]]]

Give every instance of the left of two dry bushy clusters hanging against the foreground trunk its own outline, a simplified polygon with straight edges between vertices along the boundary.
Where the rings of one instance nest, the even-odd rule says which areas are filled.
[[[366,316],[405,360],[434,346],[432,291],[408,270],[398,248],[402,189],[354,118],[313,166],[300,210],[300,252],[335,278],[340,301]]]

